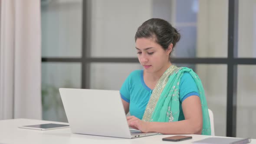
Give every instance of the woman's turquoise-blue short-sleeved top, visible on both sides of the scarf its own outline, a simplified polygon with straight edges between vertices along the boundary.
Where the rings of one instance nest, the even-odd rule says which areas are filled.
[[[130,114],[142,119],[152,90],[148,88],[143,79],[143,70],[131,72],[120,89],[121,98],[130,103]],[[198,94],[197,85],[189,72],[184,72],[180,82],[180,103],[186,98]],[[179,120],[184,120],[181,110]]]

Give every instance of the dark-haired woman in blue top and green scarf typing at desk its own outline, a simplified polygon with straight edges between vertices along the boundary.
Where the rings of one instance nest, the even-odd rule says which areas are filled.
[[[165,20],[145,21],[135,35],[143,70],[131,72],[120,93],[131,128],[162,134],[210,135],[204,90],[192,69],[171,64],[180,34]]]

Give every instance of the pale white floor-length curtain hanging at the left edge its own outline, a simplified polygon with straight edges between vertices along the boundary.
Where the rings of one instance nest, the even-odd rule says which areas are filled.
[[[0,0],[0,119],[42,119],[40,0]]]

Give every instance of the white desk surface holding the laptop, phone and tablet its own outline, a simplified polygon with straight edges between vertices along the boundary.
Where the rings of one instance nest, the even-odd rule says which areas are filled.
[[[39,131],[17,128],[21,125],[44,124],[52,121],[40,121],[30,119],[10,119],[0,121],[0,144],[191,144],[193,141],[198,141],[207,137],[192,134],[191,140],[171,142],[162,141],[163,137],[172,135],[154,135],[148,137],[139,137],[134,139],[116,138],[116,137],[101,137],[85,134],[72,134],[70,128]],[[61,122],[53,122],[58,124],[67,124]],[[251,144],[256,144],[256,139],[253,139]]]

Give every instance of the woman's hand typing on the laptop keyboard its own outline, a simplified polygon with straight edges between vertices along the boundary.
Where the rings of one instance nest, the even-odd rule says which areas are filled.
[[[140,119],[136,118],[135,116],[128,116],[126,117],[128,121],[128,125],[131,128],[140,130],[141,132],[149,132],[149,122],[141,121]]]

